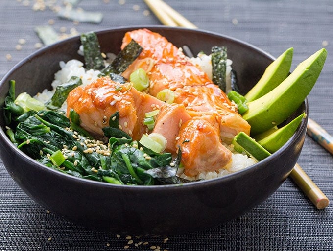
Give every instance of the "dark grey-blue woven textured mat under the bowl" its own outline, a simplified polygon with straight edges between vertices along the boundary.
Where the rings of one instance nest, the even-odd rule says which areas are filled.
[[[261,47],[273,56],[294,47],[293,66],[325,46],[325,67],[309,95],[309,115],[333,135],[332,0],[166,0],[198,27]],[[43,5],[46,4],[45,10]],[[39,4],[39,5],[38,5]],[[108,27],[160,24],[143,1],[81,0],[78,7],[103,13],[101,23],[57,18],[49,6],[61,0],[0,1],[0,77],[36,51],[37,25],[61,33]],[[35,10],[34,10],[35,9]],[[39,10],[38,10],[39,9]],[[24,39],[24,40],[22,40]],[[298,163],[333,199],[332,156],[307,137]],[[333,250],[333,209],[317,210],[287,179],[265,202],[216,228],[179,236],[136,237],[101,233],[67,222],[33,202],[14,183],[0,160],[1,251],[329,251]]]

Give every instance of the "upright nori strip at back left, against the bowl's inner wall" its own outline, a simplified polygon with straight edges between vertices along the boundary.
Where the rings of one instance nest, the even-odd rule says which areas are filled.
[[[104,60],[95,32],[81,34],[81,44],[83,46],[86,68],[95,70],[103,69]]]

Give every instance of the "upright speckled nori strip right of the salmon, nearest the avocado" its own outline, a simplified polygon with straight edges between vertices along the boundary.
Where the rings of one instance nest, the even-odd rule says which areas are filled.
[[[212,75],[213,82],[222,91],[226,91],[227,47],[212,47]]]

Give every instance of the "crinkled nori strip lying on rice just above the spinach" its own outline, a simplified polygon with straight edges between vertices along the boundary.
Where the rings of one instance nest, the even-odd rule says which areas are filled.
[[[80,85],[82,85],[82,80],[76,76],[72,76],[69,81],[58,85],[51,99],[45,104],[46,107],[50,110],[59,109],[67,99],[71,90]]]

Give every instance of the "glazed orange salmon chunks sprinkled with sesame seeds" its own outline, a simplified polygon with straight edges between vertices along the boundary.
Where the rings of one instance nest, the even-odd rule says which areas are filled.
[[[180,147],[187,176],[223,168],[232,153],[222,139],[229,144],[239,132],[250,133],[250,125],[238,114],[237,106],[165,37],[147,29],[134,30],[125,34],[121,48],[132,39],[143,51],[122,75],[128,79],[134,70],[143,68],[149,87],[140,92],[131,83],[101,77],[70,92],[67,114],[74,109],[84,129],[102,136],[102,128],[118,111],[119,128],[139,140],[149,133],[143,124],[145,113],[159,110],[152,132],[166,138],[166,151],[176,154]],[[173,91],[173,104],[156,98],[164,89]]]

